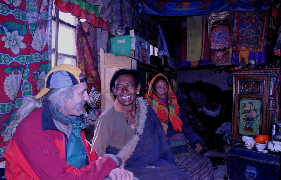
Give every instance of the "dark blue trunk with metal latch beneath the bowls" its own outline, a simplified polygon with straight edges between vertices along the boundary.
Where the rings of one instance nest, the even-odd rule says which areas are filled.
[[[245,145],[230,147],[228,154],[228,179],[281,179],[281,154],[262,153],[256,147],[247,149]]]

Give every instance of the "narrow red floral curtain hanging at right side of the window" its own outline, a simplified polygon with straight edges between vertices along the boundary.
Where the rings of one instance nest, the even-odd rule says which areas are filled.
[[[100,75],[97,62],[97,28],[87,21],[76,26],[76,57],[78,67],[85,73],[88,90],[100,91]]]

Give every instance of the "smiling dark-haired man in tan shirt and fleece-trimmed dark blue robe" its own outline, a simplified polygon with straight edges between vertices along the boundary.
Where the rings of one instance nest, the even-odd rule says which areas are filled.
[[[97,120],[92,146],[99,156],[119,156],[124,168],[139,179],[188,180],[176,166],[156,113],[146,100],[137,97],[142,78],[138,70],[114,73],[110,91],[116,100]]]

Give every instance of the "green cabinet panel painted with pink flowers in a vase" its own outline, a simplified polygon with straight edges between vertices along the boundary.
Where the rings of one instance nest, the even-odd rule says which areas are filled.
[[[239,98],[237,135],[261,134],[263,99]]]

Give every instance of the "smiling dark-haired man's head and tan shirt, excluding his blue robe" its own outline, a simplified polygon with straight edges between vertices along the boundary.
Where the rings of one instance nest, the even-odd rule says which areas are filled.
[[[100,115],[93,137],[92,146],[99,156],[106,154],[108,146],[121,150],[135,135],[139,114],[136,113],[136,97],[140,91],[140,76],[140,72],[136,70],[124,69],[114,73],[110,91],[116,100],[114,105]],[[116,130],[118,133],[115,134]]]

